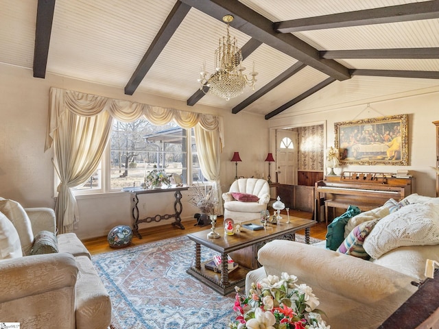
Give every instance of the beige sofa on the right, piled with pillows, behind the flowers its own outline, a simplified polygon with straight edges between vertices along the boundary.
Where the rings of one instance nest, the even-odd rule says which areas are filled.
[[[258,282],[268,274],[280,276],[287,272],[313,289],[320,300],[318,308],[327,314],[324,319],[331,328],[377,328],[416,291],[415,284],[425,280],[426,260],[439,261],[439,242],[432,239],[438,234],[439,198],[411,195],[407,201],[410,204],[396,212],[389,213],[380,207],[361,213],[346,224],[346,233],[350,234],[355,224],[362,220],[378,219],[363,241],[364,248],[372,254],[375,249],[384,248],[381,250],[383,254],[375,254],[377,258],[365,260],[342,254],[339,249],[326,249],[325,242],[305,245],[294,241],[272,241],[259,250],[258,260],[263,267],[248,273],[246,291],[250,290],[252,282]],[[407,219],[410,208],[416,211],[416,219],[420,218],[422,223],[428,221],[423,216],[434,217],[431,221],[433,228],[418,230],[420,226],[414,224],[416,234],[422,236],[421,243],[416,243],[416,234],[409,242],[405,237],[401,239],[403,242],[394,239],[398,234],[407,235],[407,228],[395,226]],[[423,213],[426,208],[431,212]],[[392,237],[380,241],[386,234]]]

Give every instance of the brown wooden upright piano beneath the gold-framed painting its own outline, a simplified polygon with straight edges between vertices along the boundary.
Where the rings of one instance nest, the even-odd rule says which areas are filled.
[[[340,176],[326,176],[316,182],[315,219],[320,221],[321,206],[324,206],[325,221],[328,208],[357,206],[361,211],[382,206],[388,199],[401,201],[412,194],[413,178],[394,177],[392,173],[364,173],[344,171]]]

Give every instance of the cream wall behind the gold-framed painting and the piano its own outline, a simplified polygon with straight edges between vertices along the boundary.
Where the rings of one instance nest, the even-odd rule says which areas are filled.
[[[436,173],[431,169],[436,165],[436,130],[431,122],[439,120],[437,80],[353,77],[345,82],[334,82],[274,117],[270,127],[275,130],[323,123],[326,149],[334,145],[336,122],[397,114],[409,114],[409,166],[356,165],[334,171],[396,173],[397,169],[408,169],[415,177],[415,193],[436,196]]]

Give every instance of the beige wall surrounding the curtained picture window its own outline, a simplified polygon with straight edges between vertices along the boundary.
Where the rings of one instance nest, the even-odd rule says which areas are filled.
[[[239,151],[243,160],[238,164],[239,175],[262,175],[265,169],[263,160],[269,148],[268,121],[261,116],[244,112],[231,114],[231,110],[207,106],[189,107],[186,106],[186,100],[164,99],[141,93],[128,96],[123,94],[123,88],[71,80],[49,73],[45,79],[37,79],[30,70],[0,64],[0,196],[15,199],[25,207],[54,208],[55,204],[52,197],[53,151],[44,152],[51,86],[221,115],[224,117],[225,135],[221,178],[222,187],[226,191],[235,178],[235,163],[230,162],[234,151]],[[187,193],[182,198],[183,220],[193,219],[193,214],[198,210],[185,202],[185,199],[188,199]],[[80,196],[78,206],[80,223],[75,232],[81,239],[106,235],[112,227],[119,224],[131,225],[128,193]],[[142,196],[139,208],[144,217],[174,212],[174,195],[158,193]],[[170,222],[171,219],[158,224]],[[154,224],[141,224],[141,228],[145,225]],[[169,225],[169,229],[174,228]]]

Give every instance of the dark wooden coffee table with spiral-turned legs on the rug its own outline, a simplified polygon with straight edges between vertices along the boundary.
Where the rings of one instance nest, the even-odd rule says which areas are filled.
[[[221,235],[219,239],[209,239],[207,237],[211,230],[188,234],[188,238],[195,242],[195,265],[191,266],[187,273],[222,295],[235,291],[235,286],[244,287],[248,271],[260,267],[257,261],[257,253],[265,243],[275,239],[295,241],[296,231],[302,229],[305,229],[305,243],[309,243],[309,228],[316,223],[315,221],[293,216],[289,217],[289,224],[286,221],[286,216],[283,216],[281,223],[270,224],[265,226],[263,230],[252,231],[243,228],[241,232],[234,235],[226,235],[222,228],[217,228],[217,232]],[[243,223],[261,225],[259,219]],[[201,246],[208,247],[221,254],[223,269],[221,273],[204,268],[204,263],[201,263]],[[227,269],[229,255],[239,265],[237,269],[230,273]]]

